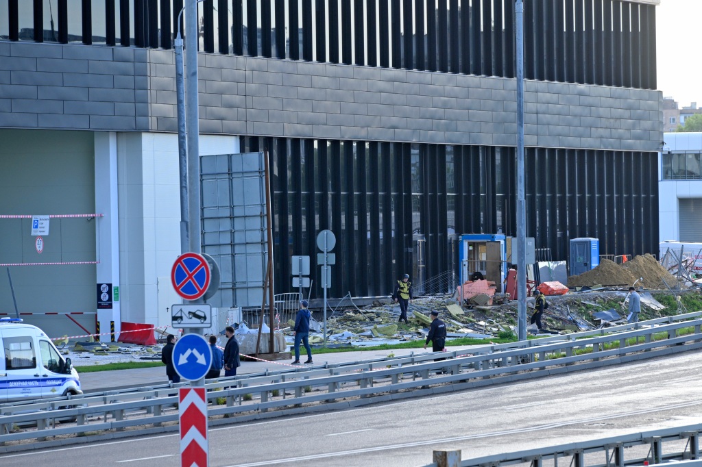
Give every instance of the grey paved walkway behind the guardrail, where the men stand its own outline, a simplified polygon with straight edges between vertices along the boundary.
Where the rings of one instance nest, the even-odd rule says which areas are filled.
[[[486,342],[487,344],[487,342]],[[470,349],[471,346],[453,346],[449,350]],[[428,350],[431,351],[431,348]],[[314,354],[314,365],[324,365],[324,363],[345,363],[357,362],[359,360],[374,360],[383,358],[389,353],[395,353],[396,357],[409,356],[411,353],[421,354],[428,352],[423,348],[402,348],[384,351],[355,351],[338,353]],[[304,353],[304,349],[303,349]],[[301,358],[302,360],[302,358]],[[242,361],[238,374],[258,373],[265,370],[279,370],[285,367],[297,367],[290,365],[292,360],[279,360],[272,362],[251,362]],[[81,373],[81,387],[83,391],[95,392],[106,391],[114,388],[129,388],[140,386],[153,386],[164,384],[166,379],[166,367],[135,368],[132,370],[112,370],[106,372]]]

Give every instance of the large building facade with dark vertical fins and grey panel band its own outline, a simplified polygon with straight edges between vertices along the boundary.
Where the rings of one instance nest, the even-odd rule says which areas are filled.
[[[576,237],[600,238],[602,254],[657,251],[658,0],[524,4],[527,235],[553,259]],[[43,257],[26,221],[0,220],[0,263],[97,263],[15,267],[28,311],[94,311],[104,282],[120,291],[105,319],[168,321],[182,5],[0,0],[0,214],[102,215],[60,220],[61,248],[52,231]],[[199,4],[201,154],[267,151],[276,292],[293,291],[290,257],[314,257],[322,229],[337,237],[331,297],[389,295],[419,243],[431,278],[456,269],[456,235],[516,234],[514,8]]]

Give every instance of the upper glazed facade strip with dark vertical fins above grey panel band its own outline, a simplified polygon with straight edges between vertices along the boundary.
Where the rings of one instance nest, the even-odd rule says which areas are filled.
[[[11,11],[11,2],[0,0],[0,40],[173,48],[170,17],[178,0],[114,0],[119,14],[106,10],[110,1],[66,1],[60,18],[58,0],[51,8],[44,1],[39,15],[37,2],[19,1]],[[514,0],[206,0],[198,7],[199,48],[513,78],[514,6]],[[654,5],[525,0],[524,34],[527,79],[656,88]]]

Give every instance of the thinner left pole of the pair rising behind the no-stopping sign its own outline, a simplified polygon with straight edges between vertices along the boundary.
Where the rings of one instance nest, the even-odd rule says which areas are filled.
[[[187,139],[185,137],[185,76],[183,69],[183,38],[180,36],[180,15],[178,13],[178,34],[176,34],[176,101],[178,103],[178,168],[180,169],[180,253],[186,253],[190,247],[188,231],[187,203]]]

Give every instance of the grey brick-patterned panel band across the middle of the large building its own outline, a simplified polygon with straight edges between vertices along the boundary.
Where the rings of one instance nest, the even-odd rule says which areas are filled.
[[[1,127],[176,130],[172,51],[0,45]],[[199,65],[202,133],[517,143],[515,80],[226,55]],[[525,102],[529,146],[662,140],[658,91],[527,81]]]

